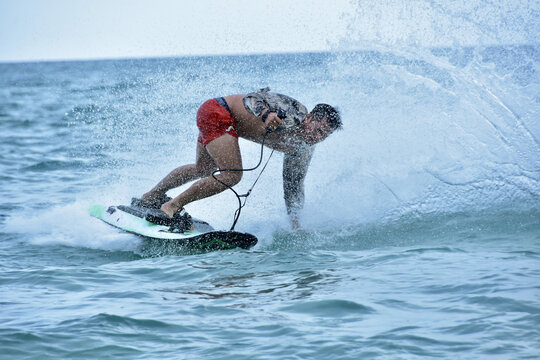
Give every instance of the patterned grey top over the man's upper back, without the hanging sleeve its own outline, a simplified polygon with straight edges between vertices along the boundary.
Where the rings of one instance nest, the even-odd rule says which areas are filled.
[[[278,130],[290,129],[300,125],[308,113],[307,108],[297,100],[287,95],[270,92],[269,87],[247,94],[244,96],[243,101],[246,110],[257,117],[261,117],[261,113],[265,109],[275,113],[280,109],[284,110],[286,118],[283,119],[283,125]]]

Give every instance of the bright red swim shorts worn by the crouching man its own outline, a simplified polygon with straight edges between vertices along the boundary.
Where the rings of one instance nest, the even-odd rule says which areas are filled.
[[[236,120],[216,99],[207,100],[197,111],[198,141],[206,146],[224,134],[238,137]]]

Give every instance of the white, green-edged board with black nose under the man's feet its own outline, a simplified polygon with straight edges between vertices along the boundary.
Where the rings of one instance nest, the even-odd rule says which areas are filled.
[[[93,205],[90,215],[123,231],[143,238],[158,239],[178,243],[190,249],[205,251],[226,249],[250,249],[257,244],[257,238],[237,231],[216,231],[207,222],[193,218],[193,226],[184,232],[170,231],[169,226],[146,220],[148,212],[158,211],[132,206]]]

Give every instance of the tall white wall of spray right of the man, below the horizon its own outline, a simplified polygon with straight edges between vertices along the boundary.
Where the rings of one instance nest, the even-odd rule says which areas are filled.
[[[344,130],[315,155],[310,216],[538,209],[540,81],[520,69],[539,58],[535,46],[336,53],[326,85]]]

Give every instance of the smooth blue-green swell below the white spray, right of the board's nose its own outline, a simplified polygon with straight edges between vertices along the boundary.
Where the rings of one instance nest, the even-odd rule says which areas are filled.
[[[533,249],[540,233],[539,218],[540,210],[409,213],[365,224],[340,226],[332,223],[300,232],[276,231],[270,241],[263,239],[259,249],[363,251],[397,246],[417,252],[462,252],[462,246],[485,246],[489,242],[509,239],[525,247],[528,244]],[[537,257],[539,254],[531,252],[530,255]]]

